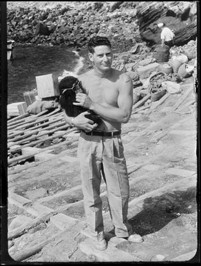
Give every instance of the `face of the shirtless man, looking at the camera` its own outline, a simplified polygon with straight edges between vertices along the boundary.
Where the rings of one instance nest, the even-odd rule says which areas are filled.
[[[94,62],[99,70],[109,70],[112,66],[112,49],[109,46],[101,45],[94,48],[94,53],[89,53],[90,61]]]

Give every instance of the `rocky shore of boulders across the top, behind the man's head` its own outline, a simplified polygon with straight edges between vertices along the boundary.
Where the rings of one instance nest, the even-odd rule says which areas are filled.
[[[154,23],[165,22],[176,32],[176,44],[197,36],[197,3],[161,2],[7,2],[8,39],[23,44],[83,48],[94,35],[105,35],[114,48],[136,42],[160,43]]]

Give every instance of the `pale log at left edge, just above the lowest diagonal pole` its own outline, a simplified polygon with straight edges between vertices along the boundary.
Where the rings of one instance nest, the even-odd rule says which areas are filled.
[[[37,225],[40,225],[41,222],[45,222],[46,220],[49,220],[51,216],[54,216],[56,214],[56,211],[45,213],[44,215],[35,218],[31,222],[27,222],[25,225],[21,225],[20,227],[17,227],[11,231],[8,231],[8,240],[12,240],[13,238],[17,238],[25,233],[27,233],[30,229],[36,227]]]

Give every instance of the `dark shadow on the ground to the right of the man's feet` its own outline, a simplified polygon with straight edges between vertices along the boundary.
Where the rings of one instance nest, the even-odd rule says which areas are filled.
[[[146,198],[143,210],[129,219],[133,231],[140,236],[160,231],[182,213],[197,211],[196,187],[187,191],[173,191],[162,196]]]

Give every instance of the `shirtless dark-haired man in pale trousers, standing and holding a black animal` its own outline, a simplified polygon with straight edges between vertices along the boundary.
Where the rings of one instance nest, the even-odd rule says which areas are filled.
[[[79,77],[86,94],[78,93],[74,105],[94,111],[100,115],[102,122],[93,124],[85,117],[87,111],[77,117],[64,115],[69,124],[81,129],[78,161],[85,215],[88,229],[96,237],[96,248],[103,250],[107,248],[107,242],[100,199],[102,177],[106,183],[109,212],[116,236],[128,238],[132,234],[131,225],[127,222],[129,180],[120,129],[121,123],[127,123],[131,115],[133,83],[127,74],[112,68],[112,48],[106,37],[90,39],[88,49],[94,68]],[[136,236],[141,242],[142,238]]]

